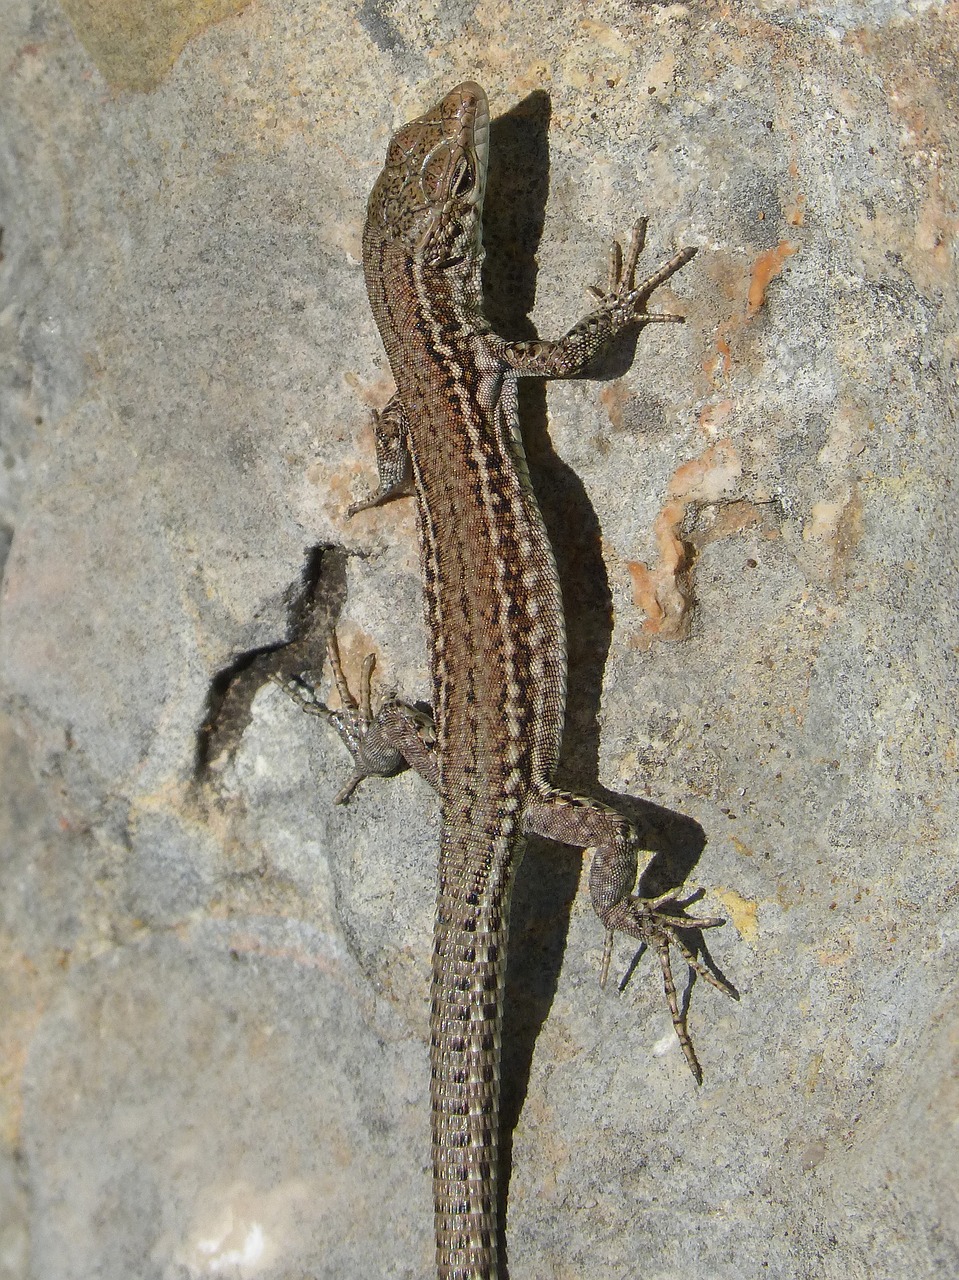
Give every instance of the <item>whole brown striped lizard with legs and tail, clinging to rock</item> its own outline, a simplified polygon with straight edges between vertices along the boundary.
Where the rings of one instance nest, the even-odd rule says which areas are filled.
[[[498,1275],[501,1030],[510,897],[528,837],[585,849],[606,931],[600,982],[622,932],[658,954],[676,1034],[702,1070],[680,1014],[670,948],[727,995],[679,929],[699,895],[638,896],[638,837],[613,809],[553,786],[565,719],[566,644],[553,552],[530,484],[517,379],[574,378],[627,328],[682,317],[647,311],[693,257],[682,248],[635,283],[645,220],[625,260],[613,243],[595,308],[558,340],[510,342],[483,310],[480,271],[489,106],[460,84],[391,138],[362,237],[370,305],[396,381],[375,415],[379,488],[350,515],[415,494],[430,646],[433,719],[389,695],[374,712],[373,657],[359,701],[335,632],[328,654],[339,708],[309,673],[289,682],[346,742],[348,799],[406,765],[434,787],[442,835],[430,987],[431,1158],[439,1280]]]

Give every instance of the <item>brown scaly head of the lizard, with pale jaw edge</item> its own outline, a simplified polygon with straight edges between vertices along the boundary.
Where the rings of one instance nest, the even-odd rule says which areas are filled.
[[[488,151],[487,95],[470,81],[398,129],[367,206],[367,262],[391,247],[440,268],[479,256]]]

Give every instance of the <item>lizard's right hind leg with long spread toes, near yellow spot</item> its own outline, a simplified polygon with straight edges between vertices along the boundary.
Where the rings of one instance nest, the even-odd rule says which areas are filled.
[[[676,998],[670,948],[676,947],[686,964],[717,991],[737,1000],[735,988],[711,973],[682,940],[684,931],[714,929],[726,922],[712,915],[684,915],[685,908],[694,899],[682,900],[676,893],[662,893],[659,897],[639,897],[634,893],[638,870],[636,832],[622,814],[597,800],[549,790],[526,805],[524,829],[528,835],[545,836],[562,845],[585,849],[592,855],[589,890],[593,908],[606,928],[600,984],[606,983],[617,931],[654,948],[662,966],[666,1001],[676,1037],[697,1084],[702,1084],[703,1070]]]

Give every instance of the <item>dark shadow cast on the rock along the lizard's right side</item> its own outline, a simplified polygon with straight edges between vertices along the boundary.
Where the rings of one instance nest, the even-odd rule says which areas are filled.
[[[510,339],[538,337],[529,314],[535,300],[535,252],[549,189],[549,118],[548,95],[535,92],[490,124],[484,212],[488,256],[483,283],[487,315],[493,328]],[[570,323],[577,319],[571,317]],[[636,332],[624,335],[602,365],[590,370],[590,380],[625,372],[633,362],[636,338]],[[652,897],[685,882],[705,847],[705,835],[699,823],[682,814],[615,795],[599,783],[598,713],[612,639],[612,594],[602,556],[602,530],[583,481],[551,444],[545,383],[521,379],[519,394],[530,475],[556,554],[566,613],[568,696],[557,785],[590,795],[634,823],[643,846],[653,855],[639,892]],[[506,1222],[512,1135],[526,1100],[534,1046],[556,997],[583,865],[580,850],[533,840],[516,879],[503,1024],[501,1224]],[[708,952],[705,957],[708,961]],[[597,988],[598,982],[597,974]],[[504,1262],[503,1226],[499,1254]],[[501,1274],[506,1274],[506,1267]]]

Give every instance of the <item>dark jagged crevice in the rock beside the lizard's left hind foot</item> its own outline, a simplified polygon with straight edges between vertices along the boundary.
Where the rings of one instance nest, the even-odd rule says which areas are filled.
[[[287,640],[238,654],[210,682],[206,716],[197,736],[196,778],[229,759],[250,723],[254,698],[269,680],[286,681],[323,667],[326,637],[346,600],[346,552],[314,547],[286,594]]]

